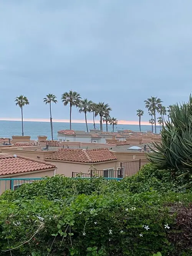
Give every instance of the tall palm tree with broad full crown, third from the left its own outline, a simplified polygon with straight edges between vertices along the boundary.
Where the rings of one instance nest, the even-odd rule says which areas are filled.
[[[70,104],[70,130],[71,130],[71,109],[72,106],[78,107],[81,102],[81,96],[76,91],[69,91],[62,94],[61,100],[63,105],[66,106]]]

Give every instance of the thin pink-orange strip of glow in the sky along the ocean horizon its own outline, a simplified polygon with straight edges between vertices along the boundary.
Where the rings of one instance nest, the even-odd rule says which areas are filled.
[[[21,121],[21,118],[0,118],[0,121]],[[31,122],[50,122],[48,118],[23,118],[23,121]],[[69,123],[69,119],[53,119],[55,123]],[[88,123],[93,123],[93,120],[87,120]],[[72,123],[85,123],[84,120],[72,120]],[[99,120],[95,120],[95,123],[99,123]],[[119,120],[118,125],[139,125],[138,121]],[[146,121],[141,121],[141,125],[149,125]]]

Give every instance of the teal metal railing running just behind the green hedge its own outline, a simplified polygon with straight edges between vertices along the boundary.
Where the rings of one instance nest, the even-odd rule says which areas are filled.
[[[0,193],[5,190],[16,190],[25,183],[33,183],[34,181],[44,180],[45,178],[0,178]],[[92,179],[90,177],[76,177],[71,179]],[[106,180],[120,181],[122,178],[104,178]]]

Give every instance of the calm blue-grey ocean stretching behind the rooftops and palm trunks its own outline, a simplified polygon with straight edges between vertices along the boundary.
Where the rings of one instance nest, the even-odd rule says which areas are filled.
[[[31,136],[31,140],[36,140],[38,135],[46,135],[48,140],[51,139],[50,122],[31,122],[23,121],[24,135]],[[57,131],[69,129],[69,123],[55,123],[53,122],[53,138],[57,140]],[[99,129],[99,124],[96,124]],[[73,130],[86,131],[85,123],[72,123]],[[93,124],[88,123],[88,129],[93,129]],[[132,130],[139,131],[139,125],[117,125],[114,131],[117,130]],[[151,130],[151,125],[141,125],[141,131]],[[103,124],[103,131],[106,131],[106,125]],[[108,125],[108,131],[112,131],[112,126]],[[157,133],[160,128],[157,127]],[[0,138],[11,138],[12,135],[22,135],[21,121],[0,121]]]

